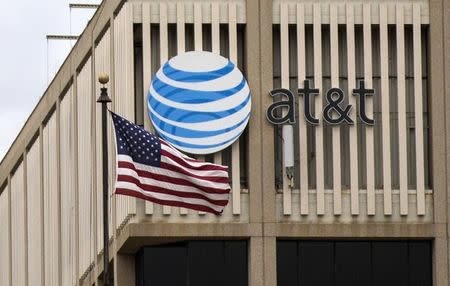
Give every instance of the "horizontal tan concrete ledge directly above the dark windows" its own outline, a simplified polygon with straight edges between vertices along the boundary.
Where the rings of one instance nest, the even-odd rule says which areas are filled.
[[[130,223],[117,237],[118,253],[145,245],[188,239],[250,237],[305,239],[433,239],[446,236],[445,224],[152,224]],[[114,254],[113,254],[114,255]]]

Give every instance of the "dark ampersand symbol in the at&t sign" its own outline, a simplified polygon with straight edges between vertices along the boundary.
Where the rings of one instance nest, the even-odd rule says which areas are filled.
[[[337,98],[333,98],[333,95],[337,95]],[[329,124],[339,124],[342,121],[347,122],[348,124],[353,124],[353,120],[348,116],[350,110],[352,109],[351,105],[347,105],[345,109],[342,109],[339,105],[344,100],[344,92],[339,88],[331,88],[327,91],[327,102],[328,104],[325,106],[323,110],[323,119]],[[334,119],[331,115],[332,111],[335,111],[339,114],[338,118]]]

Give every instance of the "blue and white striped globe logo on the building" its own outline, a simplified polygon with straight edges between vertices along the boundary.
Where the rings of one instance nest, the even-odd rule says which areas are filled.
[[[191,154],[210,154],[231,145],[244,131],[250,109],[242,72],[211,52],[173,57],[158,70],[148,92],[156,131]]]

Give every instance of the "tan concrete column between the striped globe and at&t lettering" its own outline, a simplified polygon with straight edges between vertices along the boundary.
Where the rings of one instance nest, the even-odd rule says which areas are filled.
[[[272,0],[247,0],[246,66],[252,90],[249,123],[250,222],[262,224],[262,237],[249,243],[249,285],[276,285],[276,237],[265,231],[276,220],[274,129],[265,112],[272,98]],[[266,235],[269,235],[266,237]]]

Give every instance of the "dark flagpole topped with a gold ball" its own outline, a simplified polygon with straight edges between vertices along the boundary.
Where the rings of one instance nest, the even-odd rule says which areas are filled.
[[[102,177],[103,177],[103,281],[105,286],[109,286],[109,224],[108,224],[108,130],[107,130],[107,112],[108,102],[111,99],[108,96],[108,89],[105,85],[109,81],[107,74],[100,74],[98,81],[103,85],[100,88],[98,103],[102,104]]]

